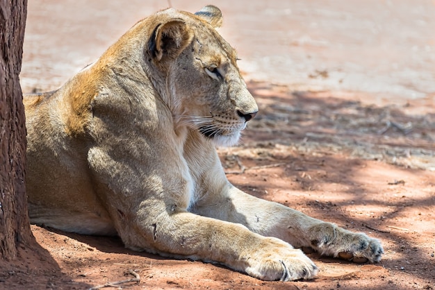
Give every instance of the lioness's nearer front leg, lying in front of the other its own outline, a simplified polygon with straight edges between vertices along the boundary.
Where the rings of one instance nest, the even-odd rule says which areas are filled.
[[[147,212],[148,208],[143,210]],[[280,239],[183,210],[167,213],[162,209],[156,215],[156,207],[152,208],[153,212],[140,214],[145,219],[124,227],[128,230],[119,230],[127,247],[138,250],[140,246],[168,257],[218,262],[261,280],[309,279],[317,273],[315,264],[301,250]]]

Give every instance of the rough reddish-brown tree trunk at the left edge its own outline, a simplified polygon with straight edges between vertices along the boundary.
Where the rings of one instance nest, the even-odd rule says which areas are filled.
[[[19,72],[27,0],[0,0],[0,258],[17,259],[31,244],[24,169],[26,123]],[[0,259],[0,260],[1,260]]]

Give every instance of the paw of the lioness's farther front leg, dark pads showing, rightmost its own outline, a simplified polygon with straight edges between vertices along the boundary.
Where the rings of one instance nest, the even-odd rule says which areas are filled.
[[[314,225],[309,229],[309,234],[311,246],[322,255],[340,257],[355,263],[377,263],[384,254],[379,240],[331,223]]]

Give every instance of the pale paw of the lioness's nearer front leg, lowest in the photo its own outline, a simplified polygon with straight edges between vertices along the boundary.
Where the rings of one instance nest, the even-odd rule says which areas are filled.
[[[247,274],[268,281],[311,279],[318,272],[302,250],[272,237],[265,238],[263,246],[247,258],[247,264]]]

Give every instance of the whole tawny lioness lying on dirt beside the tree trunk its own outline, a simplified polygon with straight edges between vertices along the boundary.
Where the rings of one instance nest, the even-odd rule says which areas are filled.
[[[258,111],[222,15],[162,10],[55,92],[25,98],[32,223],[118,234],[127,248],[313,278],[302,253],[379,262],[381,244],[233,187],[215,145]]]

